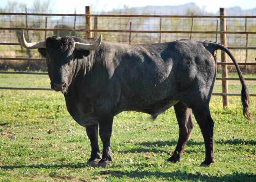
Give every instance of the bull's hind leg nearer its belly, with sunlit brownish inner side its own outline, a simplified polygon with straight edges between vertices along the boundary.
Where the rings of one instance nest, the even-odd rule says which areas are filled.
[[[180,128],[177,146],[168,161],[177,162],[181,160],[188,137],[193,129],[192,111],[183,102],[174,105],[174,111]]]

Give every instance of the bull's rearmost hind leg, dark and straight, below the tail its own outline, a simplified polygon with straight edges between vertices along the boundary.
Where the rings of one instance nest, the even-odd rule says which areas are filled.
[[[212,162],[215,162],[213,143],[214,122],[210,114],[209,104],[206,103],[204,106],[194,106],[192,107],[192,111],[204,137],[206,155],[201,166],[209,166]]]

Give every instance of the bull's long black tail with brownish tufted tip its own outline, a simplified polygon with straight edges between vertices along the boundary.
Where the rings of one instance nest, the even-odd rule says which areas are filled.
[[[244,114],[244,117],[246,119],[248,119],[249,121],[251,121],[253,123],[252,114],[250,113],[250,110],[249,110],[250,94],[249,94],[248,89],[245,85],[244,77],[243,77],[242,72],[241,72],[241,70],[238,66],[238,63],[236,62],[236,59],[234,58],[232,53],[228,50],[228,48],[226,48],[224,45],[214,43],[214,42],[202,42],[202,43],[203,43],[204,47],[208,51],[210,51],[211,53],[214,53],[214,51],[220,49],[222,51],[225,51],[229,55],[229,57],[232,59],[234,65],[236,67],[236,70],[238,72],[240,82],[242,84],[241,100],[242,100],[242,105],[243,105],[243,108],[244,108],[243,109],[243,114]]]

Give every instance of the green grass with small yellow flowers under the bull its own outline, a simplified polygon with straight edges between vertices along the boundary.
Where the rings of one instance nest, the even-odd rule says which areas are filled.
[[[230,93],[240,93],[239,81],[229,83]],[[256,93],[255,82],[246,83]],[[0,87],[48,88],[50,81],[47,75],[1,74]],[[221,92],[220,81],[214,92]],[[87,166],[90,141],[66,111],[61,93],[0,90],[0,181],[256,181],[256,124],[242,116],[240,97],[229,99],[229,109],[222,109],[220,96],[210,103],[216,157],[210,167],[200,167],[204,142],[195,120],[182,161],[166,161],[178,139],[171,108],[153,122],[144,113],[117,115],[111,138],[114,161],[102,169]],[[254,118],[255,105],[256,97],[251,97]],[[67,133],[69,129],[74,132]]]

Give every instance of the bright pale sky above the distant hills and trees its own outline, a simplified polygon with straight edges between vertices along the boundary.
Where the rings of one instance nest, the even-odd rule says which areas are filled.
[[[34,0],[1,0],[0,7],[4,8],[9,2],[18,2],[27,4],[31,7]],[[208,12],[217,12],[220,7],[230,8],[240,6],[242,9],[256,8],[256,0],[51,0],[52,10],[56,12],[74,12],[83,13],[85,6],[92,6],[97,12],[110,11],[113,8],[122,8],[124,5],[128,7],[141,6],[177,6],[189,2],[196,3],[200,8],[204,8]]]

